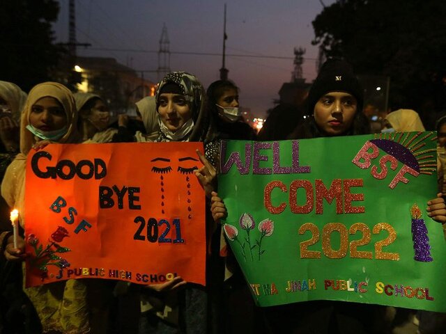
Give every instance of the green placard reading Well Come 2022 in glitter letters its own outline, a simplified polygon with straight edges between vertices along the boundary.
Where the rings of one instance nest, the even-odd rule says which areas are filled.
[[[226,240],[258,305],[446,312],[435,132],[226,141],[220,164]]]

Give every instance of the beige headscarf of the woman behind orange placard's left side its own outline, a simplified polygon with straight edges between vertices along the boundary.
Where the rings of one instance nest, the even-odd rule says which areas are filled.
[[[26,154],[33,147],[36,139],[26,126],[29,125],[31,107],[43,97],[54,97],[63,106],[67,116],[67,132],[59,139],[58,143],[77,143],[79,135],[77,133],[77,109],[75,99],[66,86],[56,82],[45,82],[34,86],[29,92],[28,99],[23,109],[23,117],[20,124],[20,154],[17,154],[14,161],[6,169],[5,177],[1,182],[1,196],[6,200],[9,207],[19,210],[21,221],[24,225],[24,181],[26,170]]]

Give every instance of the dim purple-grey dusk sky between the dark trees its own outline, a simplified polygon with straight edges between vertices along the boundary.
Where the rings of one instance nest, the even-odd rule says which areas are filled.
[[[330,6],[334,0],[323,0]],[[68,42],[68,0],[61,0],[54,25],[57,42]],[[240,105],[264,116],[291,81],[293,49],[304,47],[304,77],[316,77],[317,47],[312,21],[323,10],[318,0],[77,0],[79,56],[113,57],[157,82],[159,40],[166,24],[171,70],[196,75],[203,86],[219,79],[226,3],[226,68],[240,87]],[[195,52],[196,54],[181,54]],[[203,54],[218,54],[203,55]],[[233,56],[233,55],[245,56]],[[256,56],[256,57],[252,57]],[[268,56],[261,58],[258,56]],[[274,58],[279,57],[279,58]]]

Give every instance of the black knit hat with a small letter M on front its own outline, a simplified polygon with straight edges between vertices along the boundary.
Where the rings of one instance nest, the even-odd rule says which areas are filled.
[[[326,93],[345,92],[357,101],[357,111],[362,111],[364,91],[349,63],[339,58],[330,58],[322,65],[318,77],[308,93],[308,111],[314,112],[316,102]]]

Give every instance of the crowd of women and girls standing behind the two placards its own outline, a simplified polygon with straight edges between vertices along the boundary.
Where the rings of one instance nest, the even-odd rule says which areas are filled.
[[[389,319],[389,308],[381,305],[312,301],[257,307],[220,225],[226,216],[217,184],[220,141],[371,133],[362,113],[363,90],[353,69],[346,61],[328,60],[309,90],[311,116],[284,122],[278,115],[295,110],[282,106],[259,135],[241,118],[238,93],[229,80],[215,81],[205,90],[194,75],[171,72],[157,85],[154,97],[136,103],[137,120],[121,115],[110,125],[100,95],[73,94],[55,82],[38,84],[26,94],[15,84],[0,81],[0,333],[392,333],[394,318]],[[387,116],[382,130],[410,132],[424,127],[415,111],[400,109]],[[433,220],[445,223],[445,118],[438,120],[437,131],[439,189],[427,206]],[[11,208],[24,212],[26,156],[31,150],[49,143],[184,141],[204,146],[204,155],[197,152],[203,166],[194,173],[208,204],[206,287],[180,276],[148,286],[84,278],[23,287],[26,216],[20,217],[22,237],[15,247],[9,213]],[[440,314],[425,312],[414,319],[421,321],[422,334],[442,333],[436,331],[445,328]]]

